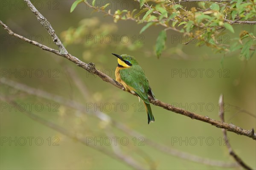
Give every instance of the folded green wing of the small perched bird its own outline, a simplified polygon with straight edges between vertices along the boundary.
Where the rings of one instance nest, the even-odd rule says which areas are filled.
[[[135,89],[135,93],[147,104],[149,84],[148,79],[145,76],[140,66],[134,66],[133,68],[126,68],[120,70],[120,76],[122,80],[129,86]]]

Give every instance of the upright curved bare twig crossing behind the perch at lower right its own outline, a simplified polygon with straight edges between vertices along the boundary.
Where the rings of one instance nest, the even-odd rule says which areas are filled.
[[[219,103],[220,103],[219,116],[221,118],[221,121],[224,122],[224,98],[223,98],[222,94],[221,94],[221,96],[219,98]],[[241,165],[241,167],[244,167],[247,170],[252,170],[252,168],[250,168],[247,164],[245,164],[244,161],[242,161],[242,159],[234,152],[234,150],[230,146],[229,139],[227,138],[227,130],[226,129],[221,129],[221,130],[222,130],[222,132],[224,134],[225,144],[226,144],[226,146],[228,148],[230,156],[232,156],[236,160],[236,162],[239,165]]]

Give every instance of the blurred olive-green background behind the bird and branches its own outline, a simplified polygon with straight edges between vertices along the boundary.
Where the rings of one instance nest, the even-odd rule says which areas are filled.
[[[125,2],[128,2],[128,9],[134,7],[134,1]],[[140,62],[157,99],[219,120],[218,98],[220,94],[224,94],[225,121],[244,129],[256,129],[255,56],[249,61],[241,61],[238,53],[215,54],[206,46],[196,47],[195,43],[183,45],[185,38],[169,30],[166,50],[162,57],[157,59],[154,45],[158,33],[163,29],[160,26],[148,28],[140,35],[140,29],[144,24],[137,25],[133,21],[114,23],[111,17],[99,12],[92,13],[93,10],[85,4],[80,4],[73,13],[70,13],[70,6],[73,3],[71,0],[35,0],[32,3],[65,42],[67,51],[81,61],[95,63],[97,69],[114,79],[117,62],[116,57],[111,53],[130,54]],[[116,3],[117,8],[124,7],[121,3],[122,1]],[[115,6],[112,6],[112,10],[115,9]],[[0,20],[15,33],[57,49],[49,34],[29,8],[25,7],[23,1],[1,1]],[[67,37],[74,28],[83,24],[84,27],[80,30],[83,37],[76,37],[75,40],[72,40],[74,37]],[[255,26],[234,28],[235,34],[239,34],[242,30],[255,31]],[[1,100],[0,113],[1,169],[131,169],[119,159],[94,150],[81,144],[77,139],[71,139],[30,119],[26,112],[18,111],[18,106],[10,107],[10,102],[5,99],[23,103],[27,111],[30,110],[42,119],[53,122],[85,140],[98,139],[102,142],[102,146],[101,142],[93,141],[91,144],[110,152],[117,148],[108,146],[107,139],[110,138],[113,143],[113,136],[119,139],[125,137],[128,139],[128,144],[125,146],[118,139],[117,147],[145,169],[150,167],[166,170],[240,169],[240,167],[209,166],[182,159],[166,154],[146,142],[140,145],[138,139],[134,144],[133,135],[97,119],[93,116],[95,114],[93,111],[106,113],[121,125],[143,134],[143,139],[150,139],[159,145],[163,144],[202,158],[234,162],[224,145],[221,129],[154,105],[151,105],[151,108],[156,121],[147,125],[145,109],[142,107],[142,102],[138,102],[137,97],[103,82],[99,77],[88,74],[67,59],[9,36],[3,27],[0,27],[0,31],[1,79],[4,77],[91,108],[79,111],[54,99],[44,99],[1,83],[1,96],[4,96]],[[85,35],[93,36],[93,40]],[[101,38],[100,35],[103,37]],[[227,36],[224,37],[227,43],[235,37],[228,31],[224,35]],[[94,36],[100,38],[102,43],[100,40],[95,42]],[[107,38],[114,36],[117,37],[117,42],[112,39],[108,43]],[[127,43],[121,41],[122,36],[128,37],[128,40],[124,40]],[[25,76],[22,73],[24,70]],[[32,71],[31,76],[29,70]],[[180,74],[183,72],[186,74]],[[77,85],[79,82],[82,88]],[[31,109],[28,103],[33,103]],[[6,104],[8,106],[4,107]],[[37,104],[43,106],[43,109],[35,107]],[[234,106],[254,116],[239,112]],[[31,144],[28,137],[32,137]],[[231,132],[228,132],[228,137],[234,151],[255,169],[255,141]],[[24,138],[26,144],[22,146]],[[36,138],[39,138],[38,141],[35,140]],[[17,144],[10,142],[10,139]],[[39,146],[41,139],[43,143]]]

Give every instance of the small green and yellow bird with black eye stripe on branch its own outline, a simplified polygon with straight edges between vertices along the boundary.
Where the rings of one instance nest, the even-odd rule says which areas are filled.
[[[113,53],[112,53],[113,54]],[[116,81],[121,83],[126,91],[136,94],[139,99],[143,100],[145,109],[148,113],[148,124],[154,122],[154,116],[148,101],[148,95],[155,99],[155,96],[149,86],[148,79],[137,60],[127,54],[121,56],[113,54],[117,57],[118,65],[116,67]]]

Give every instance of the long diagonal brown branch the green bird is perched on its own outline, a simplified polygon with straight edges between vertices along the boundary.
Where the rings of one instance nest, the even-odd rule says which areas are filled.
[[[124,90],[124,87],[119,83],[119,82],[116,82],[115,80],[113,80],[111,77],[109,77],[108,75],[102,73],[101,71],[97,70],[95,68],[95,65],[94,63],[84,63],[82,62],[81,60],[79,60],[78,58],[72,56],[71,54],[62,54],[60,53],[59,51],[57,50],[54,50],[52,48],[49,48],[45,45],[42,45],[38,42],[35,42],[35,41],[31,41],[25,37],[22,37],[18,34],[15,34],[13,33],[9,27],[7,27],[2,21],[0,21],[0,24],[3,26],[3,28],[8,31],[9,34],[15,36],[15,37],[18,37],[20,38],[21,40],[24,40],[26,42],[29,42],[33,45],[36,45],[40,48],[42,48],[43,50],[46,50],[46,51],[50,51],[50,52],[53,52],[59,56],[62,56],[68,60],[70,60],[71,62],[74,62],[77,66],[81,67],[81,68],[84,68],[85,70],[87,70],[89,73],[91,74],[96,74],[97,76],[99,76],[103,81],[106,81],[106,82],[109,82],[111,83],[112,85],[116,86],[117,88],[120,88],[122,90]],[[214,125],[215,127],[218,127],[218,128],[224,128],[224,129],[227,129],[228,131],[230,132],[234,132],[234,133],[237,133],[239,135],[244,135],[244,136],[247,136],[247,137],[250,137],[254,140],[256,140],[256,133],[254,133],[254,130],[244,130],[242,129],[241,127],[238,127],[238,126],[235,126],[233,124],[227,124],[225,122],[220,122],[220,121],[217,121],[217,120],[214,120],[214,119],[211,119],[209,118],[208,116],[201,116],[201,115],[198,115],[196,113],[192,113],[192,112],[189,112],[189,111],[186,111],[184,109],[181,109],[181,108],[176,108],[168,103],[164,103],[164,102],[161,102],[160,100],[154,100],[152,99],[151,97],[148,97],[149,101],[153,104],[153,105],[157,105],[157,106],[160,106],[168,111],[172,111],[172,112],[175,112],[175,113],[178,113],[178,114],[181,114],[181,115],[184,115],[184,116],[187,116],[187,117],[190,117],[192,119],[197,119],[197,120],[200,120],[202,122],[207,122],[211,125]]]

